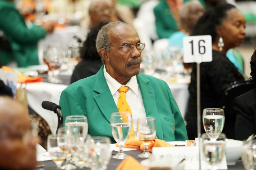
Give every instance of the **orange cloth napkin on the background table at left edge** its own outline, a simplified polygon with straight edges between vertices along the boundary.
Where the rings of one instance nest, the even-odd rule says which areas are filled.
[[[9,71],[9,72],[16,72],[12,68],[7,67],[7,66],[2,66],[1,67],[3,71]],[[30,76],[25,76],[24,74],[20,73],[18,74],[18,83],[35,83],[35,82],[42,82],[43,78],[42,77],[30,77]]]

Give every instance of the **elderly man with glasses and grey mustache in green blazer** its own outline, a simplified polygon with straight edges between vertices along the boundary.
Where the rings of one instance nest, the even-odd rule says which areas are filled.
[[[62,92],[59,105],[64,120],[69,115],[85,115],[90,135],[108,136],[114,142],[110,116],[118,112],[118,89],[128,86],[126,100],[135,132],[139,117],[154,117],[157,138],[185,141],[185,123],[166,82],[139,73],[145,44],[140,42],[134,28],[110,22],[99,31],[96,47],[104,64],[96,75],[81,79]]]

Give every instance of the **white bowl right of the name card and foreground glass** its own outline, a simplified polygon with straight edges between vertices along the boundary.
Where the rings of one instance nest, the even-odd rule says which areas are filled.
[[[243,141],[226,140],[226,159],[227,165],[235,165],[237,160],[241,157]]]

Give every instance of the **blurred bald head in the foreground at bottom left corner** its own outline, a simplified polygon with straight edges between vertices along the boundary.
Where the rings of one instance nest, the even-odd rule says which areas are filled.
[[[0,96],[0,169],[30,169],[37,165],[36,144],[25,107]]]

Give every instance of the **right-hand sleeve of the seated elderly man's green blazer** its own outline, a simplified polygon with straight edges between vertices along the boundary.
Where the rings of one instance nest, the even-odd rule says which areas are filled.
[[[181,112],[179,111],[179,107],[171,94],[171,90],[169,86],[166,83],[166,88],[168,91],[169,99],[170,99],[170,104],[171,104],[171,109],[175,118],[175,129],[174,129],[174,134],[175,134],[175,140],[176,141],[185,141],[188,139],[187,137],[187,130],[185,126],[185,122],[181,116]]]

